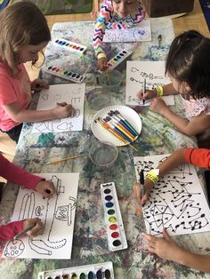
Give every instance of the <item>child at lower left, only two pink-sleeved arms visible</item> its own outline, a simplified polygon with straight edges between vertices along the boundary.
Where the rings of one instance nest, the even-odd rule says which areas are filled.
[[[20,167],[10,163],[1,154],[0,175],[4,177],[4,179],[9,179],[13,183],[36,190],[46,198],[51,198],[55,193],[55,188],[51,181],[45,181],[43,178],[20,169]],[[15,235],[19,234],[20,231],[32,224],[35,224],[36,226],[28,230],[27,235],[36,236],[42,232],[43,224],[38,218],[15,221],[0,227],[0,241],[12,239]]]

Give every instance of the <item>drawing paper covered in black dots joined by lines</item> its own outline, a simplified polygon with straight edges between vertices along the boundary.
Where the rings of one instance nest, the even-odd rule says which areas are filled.
[[[134,157],[136,178],[141,169],[145,175],[168,155]],[[195,167],[182,163],[151,189],[149,201],[143,206],[147,233],[185,235],[210,231],[210,210]]]

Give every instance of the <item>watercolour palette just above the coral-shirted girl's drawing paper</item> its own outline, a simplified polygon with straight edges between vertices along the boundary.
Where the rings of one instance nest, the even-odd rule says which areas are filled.
[[[50,66],[45,68],[44,71],[53,76],[59,76],[64,79],[68,79],[72,82],[80,84],[85,79],[85,76],[82,76],[76,72],[69,71],[68,69],[59,68],[55,66]]]

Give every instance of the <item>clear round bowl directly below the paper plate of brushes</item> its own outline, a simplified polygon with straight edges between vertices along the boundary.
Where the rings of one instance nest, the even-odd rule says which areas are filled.
[[[109,168],[117,160],[118,150],[115,145],[106,141],[94,141],[89,151],[91,161],[102,167]]]

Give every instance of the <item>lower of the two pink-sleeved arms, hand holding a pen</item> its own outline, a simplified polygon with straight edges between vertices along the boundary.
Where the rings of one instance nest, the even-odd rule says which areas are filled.
[[[35,227],[28,230],[27,235],[36,236],[42,233],[44,225],[38,218],[25,219],[11,222],[0,227],[0,241],[11,240],[15,235],[18,235],[24,228],[29,225],[36,224]]]

